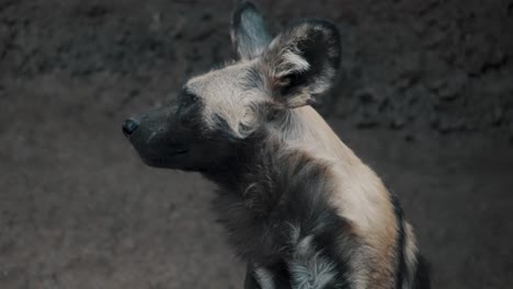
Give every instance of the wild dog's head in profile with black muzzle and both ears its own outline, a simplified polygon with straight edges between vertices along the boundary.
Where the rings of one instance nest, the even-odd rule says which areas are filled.
[[[232,15],[239,59],[190,79],[168,105],[128,118],[123,131],[151,166],[204,171],[233,157],[253,131],[326,92],[340,61],[337,27],[304,20],[272,37],[250,2]]]

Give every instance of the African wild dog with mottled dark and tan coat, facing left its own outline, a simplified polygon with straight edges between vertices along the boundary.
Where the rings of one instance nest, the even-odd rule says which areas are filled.
[[[241,2],[231,36],[238,61],[125,122],[140,158],[218,184],[246,288],[426,288],[396,198],[309,106],[335,78],[337,27],[304,20],[273,38]]]

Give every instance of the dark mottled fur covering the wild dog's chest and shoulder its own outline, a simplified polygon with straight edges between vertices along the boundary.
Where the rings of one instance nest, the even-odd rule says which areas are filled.
[[[337,189],[330,161],[269,132],[254,134],[236,154],[229,173],[206,175],[221,184],[219,221],[255,278],[269,284],[285,276],[287,287],[275,288],[347,288],[346,257],[358,242],[329,204]]]

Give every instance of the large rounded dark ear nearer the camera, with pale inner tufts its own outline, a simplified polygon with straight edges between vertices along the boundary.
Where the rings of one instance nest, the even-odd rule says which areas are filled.
[[[323,20],[304,20],[277,35],[261,67],[276,102],[294,108],[329,90],[341,58],[339,30]]]

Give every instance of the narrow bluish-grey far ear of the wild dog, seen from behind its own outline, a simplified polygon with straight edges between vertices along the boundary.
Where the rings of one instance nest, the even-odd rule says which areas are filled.
[[[262,55],[272,41],[264,20],[256,7],[239,1],[231,16],[231,42],[242,60]]]

